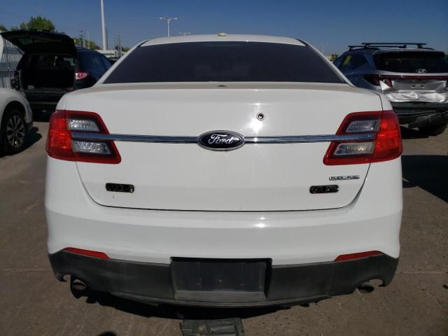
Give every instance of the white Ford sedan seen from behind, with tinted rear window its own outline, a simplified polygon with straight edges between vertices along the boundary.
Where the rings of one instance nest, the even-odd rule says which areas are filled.
[[[303,41],[144,41],[61,99],[47,151],[48,253],[76,288],[254,307],[395,273],[397,117]]]

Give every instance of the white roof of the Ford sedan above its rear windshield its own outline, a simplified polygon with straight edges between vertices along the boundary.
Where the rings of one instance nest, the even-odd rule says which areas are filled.
[[[305,46],[302,41],[295,38],[282,36],[267,36],[267,35],[245,35],[245,34],[209,34],[209,35],[186,35],[186,36],[172,36],[153,38],[144,41],[140,46],[146,47],[148,45],[158,45],[167,43],[187,43],[187,42],[267,42],[267,43],[283,43]]]

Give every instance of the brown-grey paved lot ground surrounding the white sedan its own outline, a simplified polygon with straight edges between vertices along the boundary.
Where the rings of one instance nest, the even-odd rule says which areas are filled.
[[[402,253],[390,286],[279,311],[178,311],[76,300],[55,279],[43,207],[48,123],[34,126],[29,148],[0,158],[0,335],[180,335],[181,314],[244,316],[248,336],[448,335],[448,131],[403,130]]]

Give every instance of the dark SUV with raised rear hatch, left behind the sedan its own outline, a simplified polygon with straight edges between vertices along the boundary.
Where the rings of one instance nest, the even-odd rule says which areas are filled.
[[[22,51],[11,87],[25,92],[34,116],[54,111],[64,94],[94,85],[111,67],[104,55],[76,48],[65,34],[40,30],[0,34]]]

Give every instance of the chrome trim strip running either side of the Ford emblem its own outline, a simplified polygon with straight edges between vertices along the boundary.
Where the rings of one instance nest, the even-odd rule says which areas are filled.
[[[158,135],[131,135],[131,134],[98,134],[90,132],[72,132],[73,139],[97,141],[130,141],[152,142],[162,144],[197,144],[198,137],[172,137]],[[328,135],[299,135],[286,137],[245,137],[246,144],[294,144],[309,142],[330,141],[372,141],[374,133],[363,134],[328,134]]]

